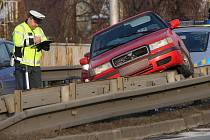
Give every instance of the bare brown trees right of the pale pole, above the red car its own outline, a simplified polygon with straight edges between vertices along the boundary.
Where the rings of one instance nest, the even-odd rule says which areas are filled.
[[[126,17],[143,11],[154,11],[164,19],[180,18],[182,20],[201,19],[207,11],[202,9],[204,1],[198,0],[121,0]],[[129,3],[129,4],[127,4]],[[206,10],[206,9],[205,9]]]

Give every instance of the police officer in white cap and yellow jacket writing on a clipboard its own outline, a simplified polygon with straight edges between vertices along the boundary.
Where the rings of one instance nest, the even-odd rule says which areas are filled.
[[[36,44],[46,41],[39,24],[45,16],[35,10],[30,10],[25,22],[17,25],[13,31],[16,89],[25,90],[41,87],[40,59],[42,49],[49,50],[49,45],[38,49]]]

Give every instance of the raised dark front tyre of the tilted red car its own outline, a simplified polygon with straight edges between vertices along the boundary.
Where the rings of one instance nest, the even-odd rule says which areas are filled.
[[[177,70],[179,73],[181,73],[185,78],[188,78],[189,76],[193,75],[194,73],[194,67],[191,59],[184,54],[184,64],[181,66],[178,66]]]

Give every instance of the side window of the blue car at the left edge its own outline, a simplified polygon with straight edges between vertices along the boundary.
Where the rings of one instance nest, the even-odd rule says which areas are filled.
[[[9,53],[4,43],[0,44],[0,63],[10,61]]]

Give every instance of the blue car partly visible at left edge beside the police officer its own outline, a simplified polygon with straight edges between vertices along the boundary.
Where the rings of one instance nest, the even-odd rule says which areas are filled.
[[[0,93],[13,93],[15,89],[14,67],[10,66],[10,53],[13,44],[0,42]]]

